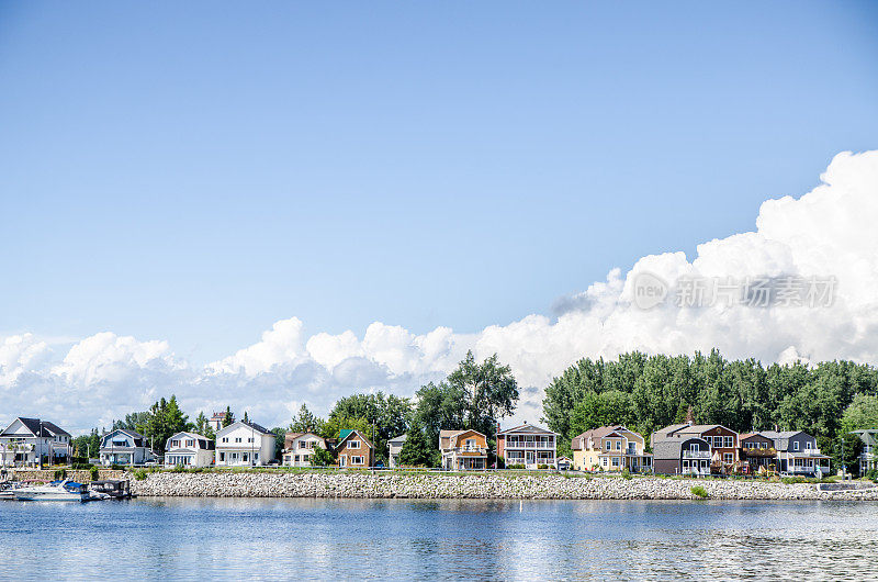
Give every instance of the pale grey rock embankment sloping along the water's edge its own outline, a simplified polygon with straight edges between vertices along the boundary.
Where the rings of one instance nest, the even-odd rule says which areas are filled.
[[[140,475],[143,477],[143,475]],[[347,497],[505,500],[711,500],[878,501],[878,488],[821,491],[811,483],[654,477],[564,477],[559,474],[441,474],[369,472],[153,472],[138,480],[136,495],[188,497]],[[825,485],[823,486],[825,489]]]

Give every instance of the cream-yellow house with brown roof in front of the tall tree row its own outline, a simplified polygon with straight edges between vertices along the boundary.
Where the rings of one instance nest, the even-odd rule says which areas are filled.
[[[652,470],[652,455],[644,438],[622,425],[586,430],[571,441],[573,468],[577,471]]]

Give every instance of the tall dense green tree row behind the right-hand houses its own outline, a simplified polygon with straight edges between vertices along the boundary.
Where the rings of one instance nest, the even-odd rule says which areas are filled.
[[[846,360],[814,366],[796,361],[767,368],[753,359],[727,360],[719,350],[695,356],[632,351],[615,361],[584,358],[545,389],[543,422],[561,434],[559,455],[590,428],[622,424],[649,443],[657,428],[682,423],[733,430],[804,430],[826,454],[852,463],[856,428],[878,428],[878,371]],[[844,445],[843,445],[844,443]]]

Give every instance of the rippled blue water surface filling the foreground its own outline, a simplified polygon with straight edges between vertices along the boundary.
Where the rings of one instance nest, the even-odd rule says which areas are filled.
[[[2,580],[878,579],[878,504],[0,502]]]

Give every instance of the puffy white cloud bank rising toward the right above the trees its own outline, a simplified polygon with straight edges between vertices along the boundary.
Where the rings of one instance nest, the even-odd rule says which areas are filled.
[[[555,304],[558,316],[528,315],[477,334],[438,327],[417,335],[371,324],[307,337],[296,317],[277,322],[259,342],[204,367],[175,355],[166,342],[104,332],[66,355],[32,334],[0,338],[0,422],[43,415],[79,432],[108,426],[176,393],[190,414],[247,410],[270,426],[285,425],[303,402],[326,413],[339,396],[384,390],[412,395],[439,380],[472,349],[511,365],[522,390],[517,418],[536,422],[542,389],[577,359],[614,358],[639,349],[691,354],[719,347],[763,362],[878,356],[878,152],[835,156],[821,183],[798,199],[763,203],[756,231],[703,243],[684,253],[650,255],[628,271]],[[686,279],[834,277],[830,305],[635,304],[638,276]],[[63,356],[63,357],[61,357]]]

